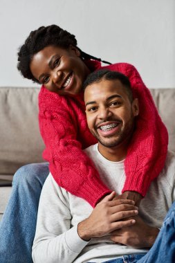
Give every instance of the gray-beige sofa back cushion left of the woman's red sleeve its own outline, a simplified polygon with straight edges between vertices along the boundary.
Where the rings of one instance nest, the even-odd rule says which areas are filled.
[[[0,88],[0,174],[14,174],[26,163],[42,162],[39,88]]]

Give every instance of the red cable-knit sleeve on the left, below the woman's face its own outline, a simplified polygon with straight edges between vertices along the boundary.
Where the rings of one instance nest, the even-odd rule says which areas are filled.
[[[111,192],[100,180],[93,162],[77,140],[77,120],[62,96],[40,93],[39,127],[46,145],[44,158],[59,186],[91,206]],[[47,105],[47,106],[46,106]]]

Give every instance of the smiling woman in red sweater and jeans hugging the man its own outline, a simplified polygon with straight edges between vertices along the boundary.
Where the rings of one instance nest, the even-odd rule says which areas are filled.
[[[102,68],[99,60],[82,52],[77,47],[74,35],[53,25],[30,33],[19,50],[18,61],[18,69],[24,78],[42,84],[39,127],[46,145],[44,158],[49,161],[50,172],[59,185],[86,199],[94,207],[110,190],[100,181],[93,163],[82,152],[82,148],[96,141],[86,125],[81,89],[86,76]],[[158,176],[164,166],[167,130],[158,116],[149,90],[133,66],[119,63],[103,68],[127,75],[133,95],[142,105],[137,122],[139,129],[133,135],[125,160],[127,179],[123,188],[123,198],[139,202],[145,196],[151,180]],[[0,262],[1,257],[2,262],[8,262],[9,258],[10,262],[32,262],[31,246],[37,205],[46,174],[48,168],[45,164],[28,165],[15,175],[10,203],[1,223],[3,244],[0,249],[3,252],[0,253]],[[9,218],[12,219],[10,226]]]

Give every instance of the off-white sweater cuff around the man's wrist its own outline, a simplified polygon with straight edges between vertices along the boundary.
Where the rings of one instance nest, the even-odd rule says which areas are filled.
[[[65,242],[71,251],[80,253],[82,249],[89,243],[80,238],[77,233],[77,225],[65,233]]]

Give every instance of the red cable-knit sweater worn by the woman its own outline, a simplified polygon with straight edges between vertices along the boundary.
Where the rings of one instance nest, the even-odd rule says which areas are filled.
[[[145,196],[153,179],[163,169],[167,154],[167,129],[136,69],[126,63],[101,67],[86,62],[91,71],[109,69],[127,75],[133,96],[138,98],[140,114],[125,160],[126,181],[122,192],[133,190]],[[93,162],[82,149],[97,141],[86,124],[83,93],[59,96],[42,87],[39,93],[39,127],[46,145],[44,158],[50,163],[55,181],[68,192],[82,197],[91,206],[110,190],[102,183]]]

